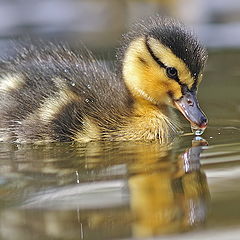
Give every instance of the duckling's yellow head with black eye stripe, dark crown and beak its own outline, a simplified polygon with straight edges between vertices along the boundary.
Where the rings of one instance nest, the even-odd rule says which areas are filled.
[[[157,16],[137,23],[124,43],[122,77],[135,101],[176,107],[193,128],[205,129],[196,93],[207,52],[192,33],[177,20]]]

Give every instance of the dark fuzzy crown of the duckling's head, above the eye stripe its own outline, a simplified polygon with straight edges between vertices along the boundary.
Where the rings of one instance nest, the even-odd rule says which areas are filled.
[[[198,78],[206,63],[207,51],[182,23],[171,17],[156,15],[138,20],[130,32],[123,36],[122,47],[117,52],[117,59],[121,63],[130,43],[143,36],[152,37],[170,48],[177,57],[184,61],[192,77]],[[151,54],[151,51],[149,53]],[[117,66],[121,66],[121,64],[118,63]],[[121,72],[121,70],[119,71]]]

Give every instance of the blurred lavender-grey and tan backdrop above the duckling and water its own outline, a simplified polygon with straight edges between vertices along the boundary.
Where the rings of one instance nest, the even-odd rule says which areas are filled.
[[[154,13],[182,19],[208,47],[240,46],[239,0],[1,0],[1,44],[37,34],[109,49],[132,22]]]

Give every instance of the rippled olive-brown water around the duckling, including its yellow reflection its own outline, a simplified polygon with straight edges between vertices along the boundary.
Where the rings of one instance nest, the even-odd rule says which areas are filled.
[[[1,143],[0,239],[239,239],[239,57],[210,54],[202,138]]]

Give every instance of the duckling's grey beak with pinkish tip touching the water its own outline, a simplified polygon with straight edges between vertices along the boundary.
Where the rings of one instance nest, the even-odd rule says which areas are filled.
[[[207,117],[199,106],[195,92],[187,91],[179,100],[175,100],[174,103],[191,123],[192,129],[204,130],[207,127]]]

